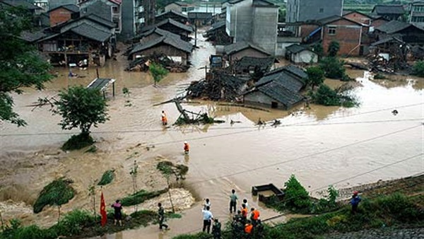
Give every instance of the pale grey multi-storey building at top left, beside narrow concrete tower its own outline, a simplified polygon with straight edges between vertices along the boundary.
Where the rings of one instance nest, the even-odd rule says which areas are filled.
[[[122,0],[85,0],[78,4],[81,16],[95,14],[117,24],[116,33],[122,31]]]

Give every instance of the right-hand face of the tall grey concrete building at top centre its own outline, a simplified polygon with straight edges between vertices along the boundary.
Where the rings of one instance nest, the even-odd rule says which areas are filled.
[[[276,55],[278,8],[253,8],[252,42]]]

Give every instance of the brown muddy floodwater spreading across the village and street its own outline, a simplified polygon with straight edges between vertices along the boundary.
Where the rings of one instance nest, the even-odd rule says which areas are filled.
[[[225,221],[230,218],[231,189],[241,199],[247,198],[249,206],[259,207],[262,218],[276,216],[252,197],[252,185],[273,182],[283,187],[292,174],[319,197],[328,185],[351,187],[423,172],[423,78],[372,80],[368,72],[348,70],[358,82],[352,94],[360,106],[353,108],[310,105],[305,109],[299,105],[290,111],[263,111],[192,100],[183,105],[187,110],[203,110],[225,123],[164,129],[160,111],[167,112],[168,122],[174,122],[179,112],[173,104],[153,105],[173,98],[190,81],[204,77],[200,68],[215,49],[201,38],[198,45],[189,71],[170,74],[158,87],[152,86],[153,80],[146,73],[124,71],[127,62],[121,56],[99,69],[100,77],[117,81],[116,96],[112,98],[111,89],[107,92],[110,121],[92,130],[98,141],[96,153],[60,151],[61,144],[78,131],[62,131],[57,125],[60,117],[52,115],[48,106],[33,107],[39,97],[54,97],[68,86],[88,85],[96,76],[95,69],[72,69],[79,78],[69,78],[68,69],[56,69],[58,77],[46,85],[45,91],[25,89],[22,95],[13,95],[15,110],[28,126],[17,128],[4,122],[0,126],[2,215],[50,226],[57,220],[56,209],[47,207],[40,214],[32,214],[31,205],[42,187],[57,177],[69,177],[77,194],[61,210],[89,209],[90,183],[114,168],[117,179],[103,188],[107,204],[112,203],[132,192],[129,171],[134,160],[141,166],[139,187],[146,190],[166,185],[163,177],[155,175],[159,160],[188,165],[184,187],[197,202],[182,211],[182,219],[170,220],[172,229],[165,233],[157,226],[148,226],[105,238],[172,238],[200,231],[201,199],[211,199],[213,215]],[[341,84],[334,80],[326,83],[331,87]],[[122,94],[124,87],[129,88],[129,96]],[[394,115],[393,110],[399,113]],[[280,119],[281,125],[257,127],[259,118]],[[239,123],[230,124],[231,120]],[[185,140],[191,146],[189,155],[182,153]]]

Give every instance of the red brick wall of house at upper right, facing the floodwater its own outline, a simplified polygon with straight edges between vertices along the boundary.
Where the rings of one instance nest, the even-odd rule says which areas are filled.
[[[336,28],[336,34],[330,35],[329,28],[334,27]],[[359,56],[362,33],[362,26],[343,19],[325,25],[322,39],[324,52],[327,52],[330,42],[335,40],[340,44],[339,55],[349,54],[351,56]]]

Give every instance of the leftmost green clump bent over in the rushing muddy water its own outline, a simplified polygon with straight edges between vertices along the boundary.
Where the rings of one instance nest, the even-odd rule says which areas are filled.
[[[46,187],[42,189],[40,195],[34,204],[34,213],[37,214],[47,206],[60,206],[66,204],[73,198],[75,190],[71,187],[71,180],[59,178],[50,182]]]

